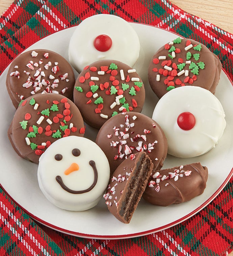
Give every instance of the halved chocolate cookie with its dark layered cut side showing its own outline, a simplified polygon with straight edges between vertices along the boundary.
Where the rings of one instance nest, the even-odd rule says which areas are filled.
[[[114,171],[104,198],[108,210],[121,222],[130,222],[152,169],[150,157],[142,151],[127,158]]]

